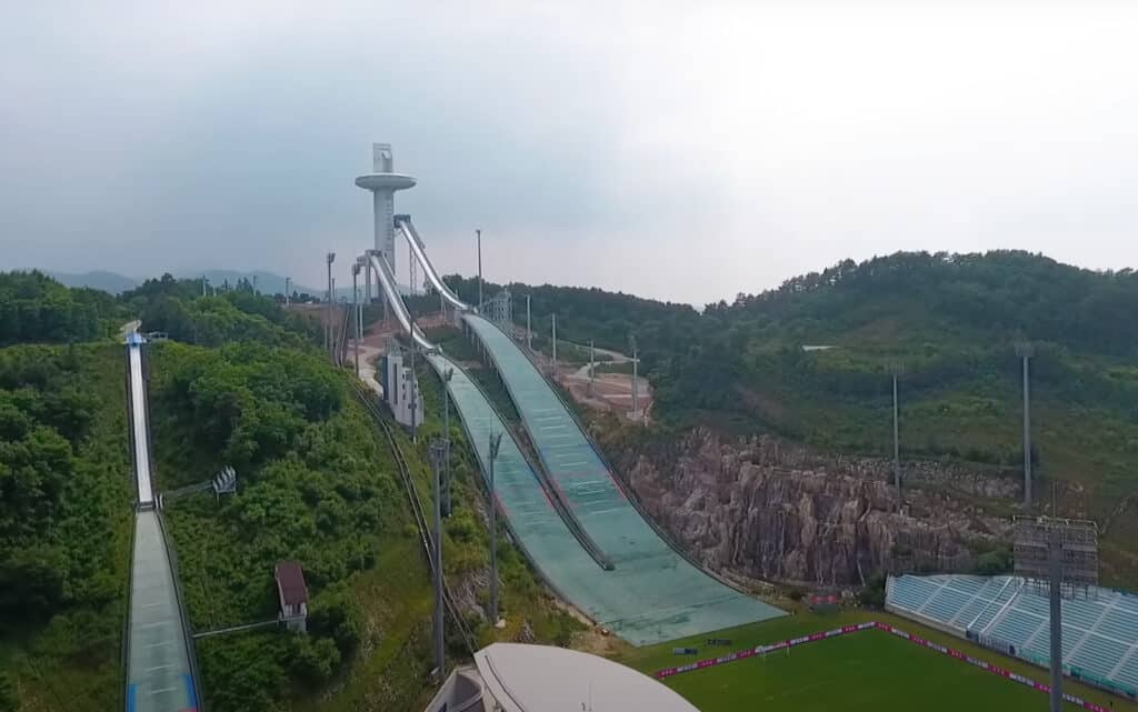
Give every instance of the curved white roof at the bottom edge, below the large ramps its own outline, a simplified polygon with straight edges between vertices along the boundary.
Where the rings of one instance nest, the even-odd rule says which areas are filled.
[[[699,712],[657,680],[588,653],[495,643],[475,662],[505,712]]]

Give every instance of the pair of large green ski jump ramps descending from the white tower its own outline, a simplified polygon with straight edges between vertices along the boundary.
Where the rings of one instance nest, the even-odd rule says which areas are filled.
[[[438,373],[453,370],[451,397],[484,477],[489,434],[505,433],[495,460],[497,506],[550,587],[634,645],[784,615],[720,582],[675,550],[628,500],[613,472],[522,347],[447,288],[410,220],[399,216],[396,227],[431,285],[461,313],[470,332],[481,341],[537,450],[538,466],[571,511],[571,521],[567,522],[510,429],[469,375],[418,328],[412,332],[390,266],[372,254],[371,267],[404,331],[428,351],[427,359]],[[586,538],[603,552],[611,570],[586,550],[582,537],[570,529],[574,523],[579,523]]]

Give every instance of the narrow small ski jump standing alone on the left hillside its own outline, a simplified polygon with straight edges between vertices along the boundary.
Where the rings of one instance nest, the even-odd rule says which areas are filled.
[[[127,403],[138,511],[125,641],[126,712],[191,712],[198,707],[192,640],[150,479],[143,343],[138,333],[127,334]]]

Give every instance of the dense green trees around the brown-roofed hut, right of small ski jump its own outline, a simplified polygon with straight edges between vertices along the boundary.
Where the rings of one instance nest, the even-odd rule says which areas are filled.
[[[344,380],[318,355],[262,343],[165,343],[151,364],[159,487],[205,480],[224,465],[240,478],[239,496],[220,504],[191,497],[167,510],[195,627],[271,619],[274,564],[300,561],[313,596],[311,635],[274,639],[258,648],[256,667],[226,674],[242,676],[246,687],[258,670],[265,681],[291,676],[303,686],[325,682],[362,631],[345,583],[374,564],[393,522],[399,530],[389,462],[358,413],[345,409]],[[212,649],[229,659],[241,645]],[[213,662],[203,667],[221,673]],[[271,685],[232,705],[224,692],[213,702],[217,710],[272,709],[262,694],[287,692]]]

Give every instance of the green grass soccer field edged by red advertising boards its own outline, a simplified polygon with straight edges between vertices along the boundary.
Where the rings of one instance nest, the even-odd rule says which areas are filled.
[[[882,619],[876,614],[874,619]],[[991,652],[976,648],[923,628],[912,621],[888,616],[889,621],[914,635],[1007,667],[1039,681],[1047,681],[1045,670],[1032,668]],[[710,648],[701,640],[685,640],[671,646],[700,647],[696,657],[671,654],[671,646],[641,648],[625,662],[651,674],[670,668],[740,651],[757,643],[775,643],[786,637],[817,632],[836,626],[871,620],[867,614],[848,613],[836,618],[799,615],[792,619],[747,626],[716,637],[732,638],[729,648]],[[864,630],[826,640],[777,651],[720,665],[668,677],[665,684],[691,701],[702,712],[1045,712],[1048,696],[989,671],[955,660],[881,630]],[[1135,712],[1138,705],[1089,690],[1074,684],[1066,690],[1112,706],[1118,712]],[[1067,704],[1066,710],[1079,710]]]

